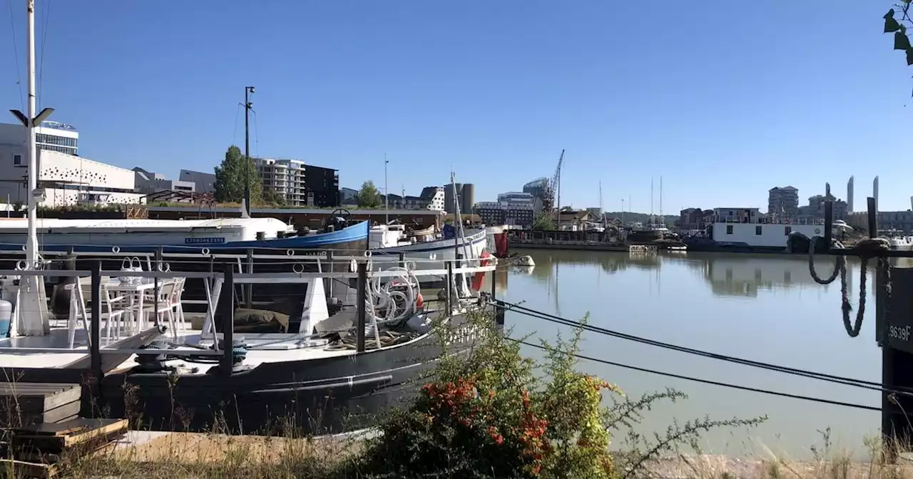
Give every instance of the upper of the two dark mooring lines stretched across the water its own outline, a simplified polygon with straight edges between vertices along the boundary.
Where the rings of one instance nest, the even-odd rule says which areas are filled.
[[[824,380],[824,381],[834,382],[837,384],[844,384],[846,386],[854,386],[854,387],[868,389],[868,390],[880,390],[882,392],[892,392],[892,393],[897,393],[900,395],[913,396],[913,392],[911,392],[909,390],[885,389],[882,387],[881,383],[878,383],[875,381],[857,380],[854,378],[847,378],[844,376],[835,376],[832,374],[825,374],[822,372],[816,372],[816,371],[810,371],[810,370],[799,370],[796,368],[790,368],[787,366],[781,366],[781,365],[777,365],[777,364],[755,361],[755,360],[751,360],[751,359],[742,359],[742,358],[736,358],[733,356],[726,356],[723,354],[712,353],[712,352],[703,351],[700,349],[686,348],[686,347],[678,346],[675,344],[670,344],[670,343],[666,343],[666,342],[662,342],[662,341],[656,341],[654,339],[642,338],[639,336],[634,336],[634,335],[622,333],[619,331],[614,331],[612,329],[599,328],[599,327],[588,325],[588,324],[582,324],[579,321],[572,321],[571,319],[566,319],[566,318],[561,318],[558,316],[550,315],[548,313],[536,311],[535,309],[530,309],[529,307],[522,307],[522,306],[519,306],[518,304],[508,303],[506,301],[501,301],[499,305],[495,304],[495,306],[504,307],[507,310],[514,310],[514,311],[518,312],[519,314],[524,314],[524,315],[530,316],[532,318],[540,318],[540,319],[544,319],[546,321],[551,321],[553,323],[561,324],[564,326],[571,326],[573,328],[582,328],[583,330],[586,330],[586,331],[603,334],[605,336],[612,336],[614,338],[628,339],[631,341],[635,341],[637,343],[647,344],[650,346],[656,346],[658,348],[672,349],[675,351],[685,352],[688,354],[694,354],[694,355],[702,356],[705,358],[719,359],[719,360],[723,360],[723,361],[733,362],[736,364],[742,364],[745,366],[751,366],[754,368],[760,368],[763,370],[774,370],[774,371],[778,371],[778,372],[782,372],[782,373],[786,373],[786,374],[792,374],[795,376],[811,378],[814,380]]]

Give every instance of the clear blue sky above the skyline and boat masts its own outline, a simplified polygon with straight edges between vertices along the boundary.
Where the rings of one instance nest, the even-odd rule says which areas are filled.
[[[26,2],[10,1],[4,109],[25,79]],[[891,4],[37,0],[39,100],[82,155],[171,176],[243,145],[254,85],[251,153],[337,168],[343,186],[383,187],[387,151],[395,193],[453,165],[493,200],[565,149],[575,207],[602,181],[606,209],[648,212],[652,176],[658,213],[662,175],[664,213],[766,209],[772,186],[844,197],[855,174],[861,209],[877,174],[880,209],[906,210],[913,68],[881,33]]]

